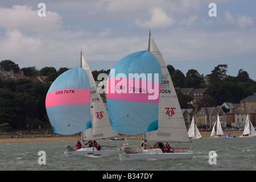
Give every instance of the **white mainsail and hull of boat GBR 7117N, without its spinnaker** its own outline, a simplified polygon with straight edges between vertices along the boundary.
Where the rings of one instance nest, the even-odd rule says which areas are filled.
[[[85,147],[83,143],[104,139],[104,138],[112,138],[118,137],[119,134],[112,130],[109,122],[109,115],[104,102],[98,93],[96,82],[94,81],[92,71],[90,70],[88,64],[86,63],[84,56],[82,56],[81,51],[81,66],[82,69],[85,70],[90,84],[90,115],[92,121],[92,127],[82,131],[82,148],[79,150],[73,150],[72,147],[66,146],[65,156],[73,156],[73,155],[84,155],[84,156],[97,156],[97,157],[106,157],[109,155],[118,155],[120,150],[97,150],[96,146],[94,147]],[[104,148],[107,148],[105,146]],[[112,146],[113,147],[113,146]],[[117,146],[115,146],[117,147]]]

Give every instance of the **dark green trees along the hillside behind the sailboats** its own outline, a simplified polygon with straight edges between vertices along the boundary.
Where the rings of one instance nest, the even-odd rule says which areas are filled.
[[[249,77],[246,71],[240,69],[237,76],[226,75],[228,65],[220,64],[214,67],[209,77],[209,84],[206,84],[203,77],[195,69],[189,69],[186,75],[172,65],[167,65],[175,88],[207,88],[207,94],[200,100],[199,106],[217,106],[223,102],[239,103],[242,98],[256,92],[256,81]],[[0,62],[0,70],[14,73],[23,72],[26,76],[48,76],[48,82],[34,82],[30,79],[0,80],[0,130],[1,126],[11,129],[24,129],[27,126],[28,118],[37,118],[48,122],[46,113],[46,94],[51,83],[61,73],[69,68],[56,70],[53,67],[44,67],[40,70],[33,67],[19,68],[11,60]],[[94,80],[100,73],[108,74],[110,69],[105,71],[92,71]],[[184,95],[176,89],[181,108],[191,108],[188,102],[193,100],[192,96]]]

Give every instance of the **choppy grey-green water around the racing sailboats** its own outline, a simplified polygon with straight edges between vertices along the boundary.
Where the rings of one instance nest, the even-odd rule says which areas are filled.
[[[102,145],[122,147],[125,141],[98,141]],[[141,140],[127,140],[140,144]],[[66,158],[67,144],[76,142],[0,143],[0,170],[104,170],[104,171],[164,171],[164,170],[256,170],[256,137],[251,138],[202,138],[192,143],[172,144],[175,147],[192,147],[195,154],[191,160],[120,161],[119,155],[108,158],[72,156]],[[39,164],[39,151],[46,152],[46,164]],[[208,154],[216,151],[216,164],[209,164]]]

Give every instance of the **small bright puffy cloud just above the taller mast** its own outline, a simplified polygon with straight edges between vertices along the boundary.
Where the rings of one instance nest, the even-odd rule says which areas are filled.
[[[174,19],[168,16],[164,10],[160,7],[155,7],[150,10],[151,19],[142,23],[140,20],[136,20],[136,24],[139,27],[156,28],[156,27],[169,27],[174,23]]]

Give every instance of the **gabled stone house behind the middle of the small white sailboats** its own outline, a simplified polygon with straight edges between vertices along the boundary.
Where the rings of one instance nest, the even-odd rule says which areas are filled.
[[[226,127],[225,113],[220,106],[201,107],[196,115],[197,126],[213,127],[214,123],[217,121],[217,116],[219,115],[221,126]]]

